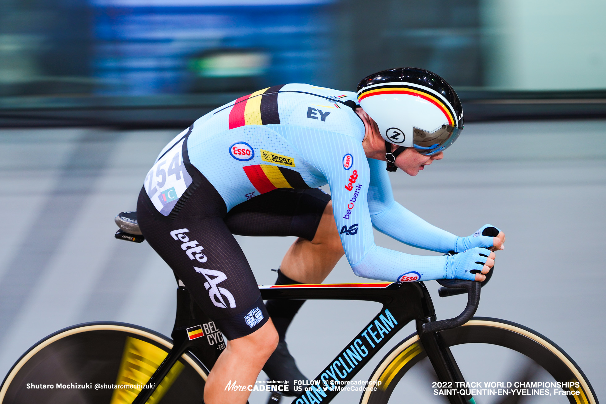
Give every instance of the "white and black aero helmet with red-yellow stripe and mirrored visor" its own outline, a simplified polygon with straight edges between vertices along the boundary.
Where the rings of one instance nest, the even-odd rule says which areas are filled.
[[[404,148],[431,156],[453,144],[463,129],[463,108],[453,88],[421,68],[393,68],[365,77],[358,84],[358,100],[385,139],[390,171],[395,171],[391,159]],[[389,153],[387,142],[401,146],[399,152]]]

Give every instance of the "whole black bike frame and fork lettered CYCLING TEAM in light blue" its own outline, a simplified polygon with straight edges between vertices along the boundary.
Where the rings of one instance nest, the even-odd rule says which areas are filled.
[[[423,282],[410,283],[350,283],[320,285],[260,286],[264,300],[278,299],[326,299],[368,300],[382,303],[381,311],[356,335],[341,353],[324,370],[305,386],[295,397],[294,404],[310,402],[328,403],[340,391],[331,386],[344,385],[375,356],[376,353],[408,322],[416,321],[421,343],[441,382],[464,382],[450,349],[442,343],[438,331],[423,331],[423,324],[436,321],[430,294]],[[478,296],[479,298],[479,296]],[[159,385],[170,368],[185,351],[190,351],[208,366],[214,365],[222,349],[209,346],[200,340],[188,340],[187,328],[211,320],[191,300],[188,291],[179,287],[177,317],[172,337],[175,345],[151,376],[148,385]],[[368,386],[370,388],[375,386]],[[143,389],[133,404],[143,404],[153,393],[153,388]],[[313,396],[313,399],[311,396]],[[451,404],[474,404],[471,396],[448,396]]]

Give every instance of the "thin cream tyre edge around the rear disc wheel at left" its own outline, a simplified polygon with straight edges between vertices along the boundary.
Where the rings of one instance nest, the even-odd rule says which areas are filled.
[[[25,363],[32,358],[32,356],[37,354],[39,351],[41,351],[42,349],[44,349],[51,343],[53,343],[57,340],[60,340],[62,338],[65,338],[65,337],[68,337],[68,336],[71,336],[74,334],[86,333],[87,331],[99,331],[99,330],[124,331],[125,333],[136,334],[136,335],[148,338],[152,341],[158,342],[160,345],[164,345],[168,349],[173,347],[173,344],[156,336],[155,334],[151,334],[151,333],[148,333],[147,331],[142,331],[141,329],[131,328],[131,327],[124,326],[124,325],[96,324],[96,325],[85,325],[85,326],[78,327],[78,328],[68,329],[67,331],[64,331],[63,333],[57,334],[56,336],[53,336],[53,337],[41,342],[39,345],[36,345],[31,351],[29,351],[27,353],[27,355],[25,355],[24,357],[22,357],[21,360],[19,360],[19,363],[17,363],[17,365],[15,365],[15,368],[13,368],[13,370],[10,372],[10,374],[6,378],[6,381],[4,382],[4,385],[2,386],[2,390],[0,390],[0,403],[4,402],[4,396],[6,395],[8,386],[10,386],[10,383],[13,381],[13,379],[15,379],[15,375],[19,372],[19,370],[21,370],[23,365],[25,365]],[[198,363],[194,362],[194,360],[191,359],[191,357],[188,356],[187,354],[183,354],[181,356],[181,359],[184,359],[185,362],[189,363],[189,365],[192,368],[194,368],[195,371],[198,372],[198,374],[206,382],[207,375],[206,375],[206,373],[204,373],[204,370],[198,365]]]

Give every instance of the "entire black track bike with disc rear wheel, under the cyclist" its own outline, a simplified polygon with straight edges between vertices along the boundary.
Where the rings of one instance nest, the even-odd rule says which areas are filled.
[[[132,223],[122,224],[116,238],[142,242],[144,237],[134,234],[135,213],[120,215]],[[423,282],[260,286],[264,300],[382,303],[381,311],[318,376],[299,387],[292,403],[325,404],[344,388],[351,388],[348,383],[360,369],[414,321],[416,332],[397,343],[370,379],[356,387],[362,391],[361,404],[399,403],[406,398],[450,404],[475,404],[476,399],[503,404],[528,399],[599,404],[579,366],[547,337],[513,322],[473,317],[481,287],[491,274],[492,270],[484,282],[438,280],[443,286],[441,297],[467,293],[465,310],[445,320],[437,320]],[[178,283],[171,339],[117,322],[62,329],[36,343],[13,365],[0,386],[0,404],[201,404],[205,380],[225,349],[225,341],[187,288]],[[516,373],[506,375],[506,379],[485,374],[502,368],[507,361],[514,364]],[[415,394],[421,396],[410,397],[405,388],[408,385],[416,385]],[[279,391],[270,392],[270,402],[278,403]]]

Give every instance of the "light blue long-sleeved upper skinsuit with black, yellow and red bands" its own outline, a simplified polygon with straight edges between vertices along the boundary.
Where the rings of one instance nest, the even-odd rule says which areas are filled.
[[[259,103],[268,97],[261,93],[276,88],[276,105],[268,110],[267,102]],[[474,279],[468,270],[481,270],[482,265],[473,260],[464,263],[462,254],[414,256],[375,245],[373,227],[408,245],[441,253],[491,247],[493,239],[477,232],[469,237],[454,236],[398,204],[385,162],[367,159],[362,148],[364,124],[345,102],[357,105],[356,94],[308,84],[258,91],[205,114],[193,124],[187,131],[189,161],[221,194],[227,210],[267,191],[267,184],[291,187],[287,175],[280,177],[284,169],[299,173],[308,187],[330,185],[345,256],[358,276],[390,282]],[[170,213],[191,179],[187,173],[181,175],[183,171],[176,172],[174,166],[173,173],[168,170],[162,181],[157,181],[154,173],[162,161],[170,163],[165,156],[179,149],[171,147],[182,141],[185,132],[162,150],[145,180],[148,196],[164,215]],[[176,161],[182,161],[181,154],[176,154]]]

